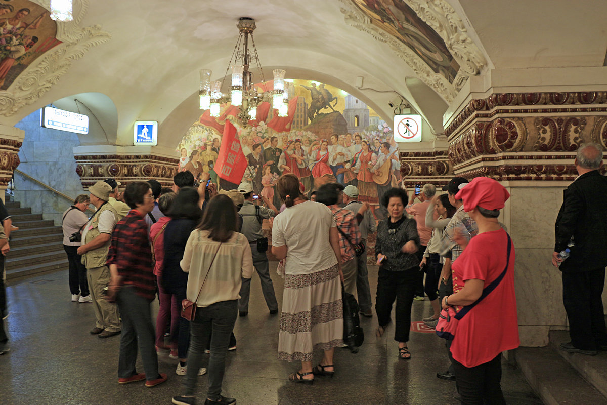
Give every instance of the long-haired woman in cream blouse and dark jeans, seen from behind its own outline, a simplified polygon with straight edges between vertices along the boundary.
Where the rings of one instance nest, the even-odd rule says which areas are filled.
[[[215,196],[186,243],[181,268],[189,273],[186,295],[189,301],[196,302],[197,308],[191,322],[185,393],[173,398],[177,405],[195,403],[197,372],[209,339],[209,389],[205,403],[236,402],[221,395],[225,356],[236,322],[241,278],[253,275],[251,247],[246,237],[236,232],[236,218],[232,200],[224,195]]]

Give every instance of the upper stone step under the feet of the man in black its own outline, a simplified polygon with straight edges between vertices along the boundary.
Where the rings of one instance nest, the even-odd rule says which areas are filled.
[[[558,350],[558,345],[561,342],[568,342],[570,340],[569,332],[566,330],[553,330],[550,332],[550,346],[552,349],[556,350],[586,381],[607,397],[607,353],[599,352],[596,356],[588,356]]]

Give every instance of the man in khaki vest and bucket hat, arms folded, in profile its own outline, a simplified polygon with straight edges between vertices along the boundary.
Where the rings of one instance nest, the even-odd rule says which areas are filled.
[[[97,324],[90,331],[91,335],[99,335],[101,339],[109,338],[120,333],[120,318],[115,302],[106,301],[103,290],[110,282],[110,271],[106,266],[107,251],[112,239],[112,231],[118,222],[118,213],[110,205],[112,188],[105,182],[97,182],[89,187],[90,203],[97,208],[95,214],[84,226],[82,245],[78,254],[82,255],[82,263],[87,269],[90,296]]]

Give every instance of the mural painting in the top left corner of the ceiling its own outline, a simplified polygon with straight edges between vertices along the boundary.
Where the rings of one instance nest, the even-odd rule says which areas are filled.
[[[61,44],[49,11],[28,0],[0,4],[0,90],[6,90],[42,53]]]

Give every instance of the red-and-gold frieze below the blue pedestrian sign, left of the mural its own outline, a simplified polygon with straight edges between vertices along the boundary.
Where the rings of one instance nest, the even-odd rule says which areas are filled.
[[[84,188],[109,177],[124,183],[158,180],[172,186],[178,159],[157,155],[76,155],[76,173]]]

